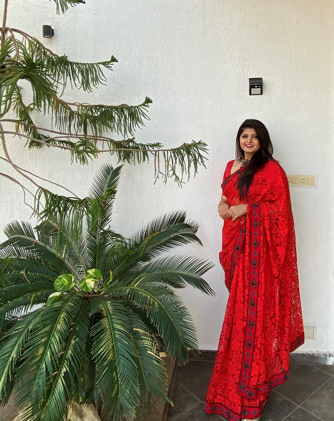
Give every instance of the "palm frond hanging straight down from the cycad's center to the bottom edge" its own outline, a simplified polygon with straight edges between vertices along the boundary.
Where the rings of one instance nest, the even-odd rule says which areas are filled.
[[[102,413],[107,420],[124,416],[130,421],[139,403],[139,381],[126,308],[113,299],[92,298],[91,314],[95,313],[103,316],[92,327]]]

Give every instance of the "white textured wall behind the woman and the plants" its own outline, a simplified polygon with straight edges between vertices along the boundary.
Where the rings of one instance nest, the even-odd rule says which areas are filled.
[[[201,349],[216,349],[227,290],[218,261],[222,220],[216,206],[226,162],[234,157],[237,128],[245,118],[268,127],[274,156],[287,173],[315,174],[316,189],[292,188],[300,291],[305,325],[316,341],[297,352],[334,352],[333,287],[333,8],[331,0],[86,0],[63,16],[53,2],[10,0],[8,25],[44,40],[70,59],[119,63],[106,86],[73,101],[139,104],[150,96],[147,127],[138,141],[175,147],[202,139],[208,169],[183,189],[153,185],[153,167],[125,166],[114,213],[115,229],[130,234],[150,218],[186,209],[200,224],[204,247],[189,246],[216,266],[205,277],[216,298],[187,288],[182,295],[197,326]],[[55,36],[45,40],[42,24]],[[263,96],[248,96],[249,77],[263,77]],[[18,165],[66,184],[79,195],[104,156],[89,166],[70,165],[64,152],[10,145]],[[4,169],[1,164],[1,171]],[[29,218],[21,192],[1,181],[1,231],[13,218]]]

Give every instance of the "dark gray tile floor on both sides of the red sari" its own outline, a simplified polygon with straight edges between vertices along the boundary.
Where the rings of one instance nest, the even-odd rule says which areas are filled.
[[[224,421],[203,411],[213,361],[189,361],[177,367],[171,389],[174,407],[167,421]],[[290,364],[289,379],[275,387],[260,421],[334,421],[334,366]]]

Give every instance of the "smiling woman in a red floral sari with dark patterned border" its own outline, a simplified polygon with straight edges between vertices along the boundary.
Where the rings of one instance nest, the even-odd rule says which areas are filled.
[[[258,120],[242,123],[236,152],[218,204],[229,299],[204,407],[231,421],[260,417],[304,343],[287,176]]]

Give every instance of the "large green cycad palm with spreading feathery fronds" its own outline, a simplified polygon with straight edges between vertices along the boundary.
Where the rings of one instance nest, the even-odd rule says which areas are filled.
[[[120,171],[101,167],[89,197],[63,198],[53,212],[49,203],[53,216],[35,229],[17,221],[5,229],[0,402],[14,392],[23,420],[66,420],[73,401],[100,405],[105,420],[132,420],[150,394],[167,399],[159,352],[184,363],[187,348],[197,349],[175,288],[212,294],[202,279],[212,264],[164,255],[201,244],[197,224],[176,211],[131,238],[113,232]]]

